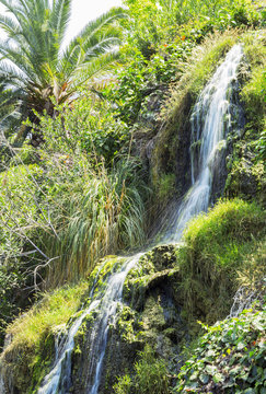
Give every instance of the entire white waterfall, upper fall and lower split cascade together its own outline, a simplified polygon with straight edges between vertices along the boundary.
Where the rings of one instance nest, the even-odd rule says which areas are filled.
[[[173,215],[170,230],[163,242],[177,242],[187,221],[201,211],[206,211],[210,201],[212,174],[219,148],[231,126],[228,91],[236,80],[238,66],[242,57],[240,45],[235,45],[227,55],[224,62],[217,69],[210,82],[200,94],[192,115],[192,188]],[[194,147],[200,148],[195,152]],[[74,335],[85,316],[96,311],[97,318],[90,334],[90,354],[88,381],[84,392],[97,394],[103,360],[107,344],[108,327],[115,317],[122,301],[123,286],[129,270],[143,253],[126,258],[118,265],[117,271],[105,282],[105,291],[94,294],[91,291],[91,304],[71,326],[65,343],[58,350],[53,370],[46,375],[38,394],[66,394],[71,385],[71,351],[74,348]],[[100,298],[102,296],[102,299]],[[1,380],[0,380],[1,387]],[[1,392],[2,393],[2,392]]]

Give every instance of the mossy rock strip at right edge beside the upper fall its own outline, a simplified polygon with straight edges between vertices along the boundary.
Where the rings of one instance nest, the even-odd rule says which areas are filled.
[[[240,94],[245,125],[239,135],[230,136],[232,150],[227,158],[225,194],[255,199],[265,206],[265,166],[257,150],[266,124],[265,32],[248,32],[242,36],[242,42],[245,61],[241,70]]]

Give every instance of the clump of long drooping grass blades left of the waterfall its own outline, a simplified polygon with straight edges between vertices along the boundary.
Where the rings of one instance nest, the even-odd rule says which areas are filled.
[[[73,183],[58,185],[58,176],[56,183],[61,188],[53,196],[59,201],[54,206],[57,236],[45,233],[41,239],[56,258],[46,275],[49,286],[78,280],[104,255],[143,243],[147,188],[136,163],[126,160],[109,171],[103,164],[96,170],[84,166]]]

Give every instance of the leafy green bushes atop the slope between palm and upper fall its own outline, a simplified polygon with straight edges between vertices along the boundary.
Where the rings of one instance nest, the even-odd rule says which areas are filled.
[[[162,94],[162,86],[178,81],[196,59],[195,54],[189,58],[192,48],[208,34],[259,25],[263,21],[263,15],[242,0],[125,3],[129,19],[124,24],[129,34],[122,54],[127,67],[118,70],[118,85],[107,89],[107,97],[117,103],[118,116],[129,124],[140,117],[150,120],[149,96]]]

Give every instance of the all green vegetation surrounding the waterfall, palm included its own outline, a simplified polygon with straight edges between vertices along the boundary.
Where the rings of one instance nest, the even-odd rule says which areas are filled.
[[[257,192],[263,195],[265,11],[259,4],[126,0],[128,18],[123,18],[122,9],[111,10],[89,23],[62,51],[70,0],[0,3],[18,16],[0,18],[9,35],[9,42],[0,44],[1,325],[34,301],[39,290],[78,282],[88,275],[92,282],[101,257],[143,245],[150,230],[147,218],[155,227],[158,207],[184,194],[176,155],[188,151],[189,126],[185,125],[199,92],[236,42],[242,42],[245,55],[239,88],[246,125],[228,138],[227,194],[248,199]],[[122,37],[119,67],[93,79],[117,59],[114,45]],[[20,136],[27,134],[32,143],[33,136],[39,137],[37,149],[27,140],[18,148],[18,129],[14,134],[10,123],[18,118],[18,109],[24,119],[28,117],[20,124]],[[248,179],[257,181],[256,192],[241,188],[247,172]],[[189,171],[181,176],[188,179]],[[149,201],[150,185],[155,190],[154,206]],[[190,221],[176,255],[171,250],[160,257],[158,264],[165,268],[162,276],[153,266],[148,269],[143,258],[135,285],[150,291],[148,280],[154,287],[162,278],[171,281],[182,309],[178,317],[187,324],[185,334],[193,337],[199,331],[196,320],[212,324],[223,318],[236,289],[242,285],[254,289],[266,274],[264,223],[261,206],[240,199],[220,201]],[[122,262],[109,259],[96,292],[104,291],[104,277]],[[136,271],[130,275],[132,279]],[[127,293],[132,289],[129,285]],[[55,334],[78,311],[85,288],[81,282],[42,301],[37,298],[30,312],[9,325],[7,333],[13,340],[3,358],[21,392],[32,393],[43,378],[54,358]],[[128,310],[117,322],[123,339],[134,336]],[[264,392],[263,313],[248,311],[206,326],[208,334],[182,369],[174,392]],[[136,336],[136,346],[138,340]],[[147,346],[130,372],[123,371],[115,392],[171,392],[176,376],[170,376],[167,368],[175,369],[176,360],[170,366],[157,356]]]

